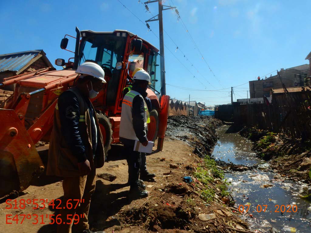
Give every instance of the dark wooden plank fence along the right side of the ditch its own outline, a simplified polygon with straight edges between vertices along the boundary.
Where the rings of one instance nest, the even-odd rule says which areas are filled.
[[[220,105],[215,117],[232,117],[229,106]],[[231,106],[232,107],[232,106]],[[217,110],[217,109],[216,109]],[[311,91],[272,93],[272,103],[235,104],[234,122],[280,133],[290,138],[311,139]]]

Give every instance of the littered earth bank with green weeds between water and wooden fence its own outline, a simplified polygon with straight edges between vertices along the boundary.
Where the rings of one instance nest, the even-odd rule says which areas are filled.
[[[289,139],[254,127],[244,127],[240,134],[254,142],[253,150],[281,176],[311,183],[311,140]]]

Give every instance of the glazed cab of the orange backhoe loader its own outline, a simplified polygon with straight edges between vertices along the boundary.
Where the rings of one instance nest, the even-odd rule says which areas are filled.
[[[123,88],[128,85],[128,77],[137,67],[149,72],[151,88],[155,93],[160,93],[160,71],[157,71],[160,66],[156,61],[159,63],[160,58],[156,59],[158,49],[150,43],[124,30],[86,30],[81,31],[81,37],[77,66],[85,61],[93,61],[103,68],[106,67],[105,69],[108,68],[112,74],[110,80],[106,80],[108,82],[103,86],[103,91],[92,101],[95,107],[105,106],[110,113],[121,114]],[[140,48],[137,48],[138,41],[141,42]]]

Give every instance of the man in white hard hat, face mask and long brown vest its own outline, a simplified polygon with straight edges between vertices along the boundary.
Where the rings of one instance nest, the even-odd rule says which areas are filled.
[[[90,98],[96,97],[106,81],[104,70],[93,62],[81,64],[76,73],[76,86],[63,92],[55,107],[47,175],[63,177],[62,222],[73,223],[71,219],[78,214],[80,220],[75,223],[75,232],[89,233],[92,232],[88,213],[95,191],[95,169],[104,165],[105,157],[99,122]],[[67,203],[74,199],[82,202],[77,208],[69,208]],[[70,233],[72,223],[57,225],[57,232]]]

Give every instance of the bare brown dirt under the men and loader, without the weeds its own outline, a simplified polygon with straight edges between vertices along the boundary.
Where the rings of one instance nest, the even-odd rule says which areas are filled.
[[[204,121],[204,119],[203,119]],[[203,122],[204,123],[204,122]],[[213,124],[196,126],[211,129]],[[214,128],[216,128],[214,126]],[[190,128],[191,130],[194,130]],[[207,130],[207,131],[208,131]],[[204,137],[200,133],[200,137]],[[214,136],[215,137],[215,136]],[[193,135],[188,137],[193,138]],[[210,150],[213,145],[204,145],[202,140],[196,139],[199,153],[205,149]],[[195,140],[191,139],[191,143]],[[214,142],[215,143],[215,142]],[[41,148],[44,149],[47,146]],[[156,147],[155,147],[156,148]],[[148,187],[149,196],[145,199],[129,200],[127,198],[129,187],[126,185],[128,179],[127,163],[121,145],[113,145],[109,153],[109,162],[104,167],[97,169],[96,173],[111,173],[117,178],[109,182],[97,178],[95,194],[92,196],[89,221],[93,230],[105,232],[250,232],[246,229],[245,222],[239,219],[232,211],[233,208],[226,206],[220,196],[216,196],[212,202],[204,202],[200,198],[200,185],[186,184],[183,176],[191,176],[196,167],[202,163],[202,159],[194,154],[195,147],[189,146],[182,140],[176,140],[168,136],[164,143],[164,150],[154,152],[147,156],[147,167],[150,172],[156,173],[156,178],[145,182]],[[41,154],[46,151],[43,150]],[[170,168],[170,164],[178,168]],[[216,181],[215,181],[216,182]],[[151,186],[149,186],[151,185]],[[210,184],[213,187],[213,184]],[[21,199],[61,199],[63,195],[62,181],[55,177],[41,176],[33,181],[33,185],[27,188],[19,197]],[[12,198],[13,199],[13,198]],[[14,203],[14,200],[11,203]],[[41,201],[42,202],[42,201]],[[40,201],[38,201],[40,204]],[[56,226],[49,224],[46,215],[58,214],[58,210],[45,206],[43,209],[33,209],[33,204],[26,204],[25,209],[6,209],[6,199],[0,200],[0,232],[56,232]],[[199,214],[214,213],[216,219],[202,222],[198,219]],[[6,215],[19,214],[19,223],[12,220],[12,224],[6,224]],[[21,223],[22,214],[43,215],[45,224],[32,224],[33,217],[25,219]],[[239,230],[230,230],[235,228]]]

